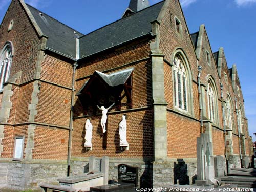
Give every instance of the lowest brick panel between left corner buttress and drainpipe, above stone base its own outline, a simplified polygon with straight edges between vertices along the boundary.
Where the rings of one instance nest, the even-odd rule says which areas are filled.
[[[67,159],[69,130],[37,126],[33,159]]]

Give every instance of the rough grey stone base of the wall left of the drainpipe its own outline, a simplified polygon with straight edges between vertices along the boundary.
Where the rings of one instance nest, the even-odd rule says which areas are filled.
[[[41,183],[58,183],[57,178],[67,176],[63,162],[0,163],[0,187],[15,190],[39,189]]]

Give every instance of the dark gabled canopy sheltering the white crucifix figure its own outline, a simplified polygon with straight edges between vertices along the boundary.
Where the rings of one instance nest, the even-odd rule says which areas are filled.
[[[98,100],[100,96],[104,96],[104,105],[109,105],[112,102],[110,97],[114,97],[118,110],[121,110],[122,99],[126,97],[127,105],[132,108],[132,74],[133,68],[111,74],[95,71],[76,94],[82,103],[84,115],[88,114],[89,105],[96,106],[102,102]]]

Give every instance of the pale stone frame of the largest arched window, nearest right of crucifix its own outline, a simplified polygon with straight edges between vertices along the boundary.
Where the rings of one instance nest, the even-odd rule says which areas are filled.
[[[179,106],[179,96],[178,96],[179,91],[178,91],[178,78],[177,78],[178,73],[176,73],[176,76],[174,76],[175,75],[174,71],[178,69],[177,66],[175,65],[176,56],[180,57],[180,59],[182,61],[182,65],[183,65],[183,69],[180,71],[180,74],[183,75],[183,76],[185,75],[185,78],[186,78],[186,81],[185,81],[186,82],[185,94],[186,94],[186,106],[187,106],[186,109],[184,109],[184,103],[182,103],[181,107]],[[174,93],[173,94],[174,110],[176,110],[180,113],[189,115],[189,116],[194,116],[191,68],[190,68],[188,59],[186,57],[186,54],[183,52],[183,50],[181,48],[178,48],[178,49],[176,49],[176,51],[173,52],[172,62],[173,62],[173,65],[172,65],[172,79],[173,79],[173,93]],[[175,81],[176,81],[176,84],[174,86]],[[180,86],[180,88],[182,88],[182,89],[184,89],[183,82],[184,81],[182,81],[181,86]],[[176,88],[177,91],[175,91],[175,88]],[[175,94],[175,92],[176,92],[176,94]],[[184,91],[181,95],[182,95],[182,98],[184,100]]]

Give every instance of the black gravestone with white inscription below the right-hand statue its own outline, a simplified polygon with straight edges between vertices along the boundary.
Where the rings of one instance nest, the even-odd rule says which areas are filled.
[[[118,182],[138,184],[138,167],[125,164],[118,165]]]

